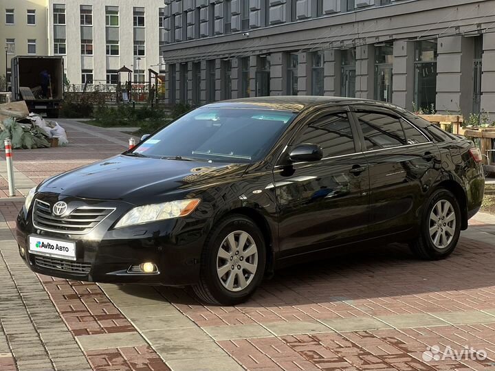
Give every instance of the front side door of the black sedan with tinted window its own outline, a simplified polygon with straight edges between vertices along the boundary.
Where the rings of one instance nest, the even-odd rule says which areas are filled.
[[[309,120],[287,146],[285,153],[298,144],[318,144],[323,159],[274,169],[281,257],[344,245],[366,234],[369,170],[357,138],[347,111],[329,111]]]

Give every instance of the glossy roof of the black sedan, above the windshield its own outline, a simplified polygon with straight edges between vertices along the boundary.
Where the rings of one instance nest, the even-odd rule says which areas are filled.
[[[394,104],[361,98],[323,97],[314,95],[281,95],[270,97],[240,98],[206,104],[206,108],[258,108],[300,112],[304,109],[331,104],[372,104],[377,107],[404,111]]]

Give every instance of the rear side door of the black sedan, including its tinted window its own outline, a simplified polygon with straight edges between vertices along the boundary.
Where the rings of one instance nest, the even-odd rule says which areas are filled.
[[[440,170],[439,150],[388,109],[353,107],[370,175],[370,236],[419,225],[426,192]]]

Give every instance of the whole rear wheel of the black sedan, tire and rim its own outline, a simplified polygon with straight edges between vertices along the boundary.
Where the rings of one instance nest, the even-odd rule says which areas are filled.
[[[412,253],[424,260],[447,258],[461,234],[461,207],[452,192],[435,190],[425,203],[421,232],[410,242]]]

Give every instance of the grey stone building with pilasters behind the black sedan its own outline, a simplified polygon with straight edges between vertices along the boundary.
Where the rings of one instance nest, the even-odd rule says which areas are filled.
[[[171,103],[341,95],[495,114],[495,1],[165,4],[159,33]]]

